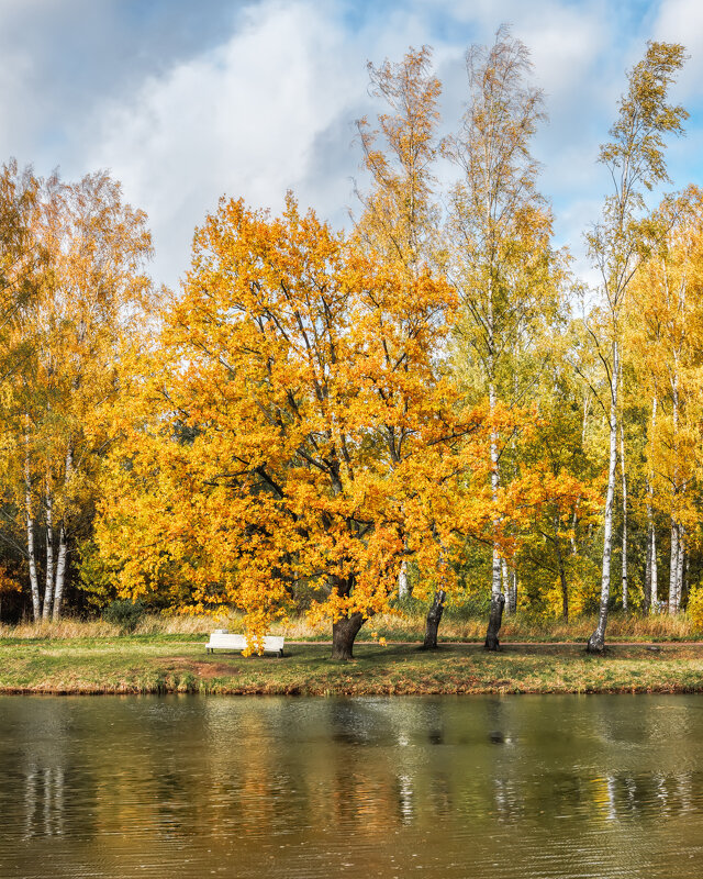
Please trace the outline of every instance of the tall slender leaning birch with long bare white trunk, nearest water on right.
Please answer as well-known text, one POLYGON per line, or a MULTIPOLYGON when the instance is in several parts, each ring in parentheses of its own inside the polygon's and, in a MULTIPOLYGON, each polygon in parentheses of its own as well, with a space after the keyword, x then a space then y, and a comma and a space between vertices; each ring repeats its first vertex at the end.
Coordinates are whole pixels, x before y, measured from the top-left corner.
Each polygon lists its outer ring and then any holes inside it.
POLYGON ((613 504, 617 468, 620 382, 623 345, 623 309, 632 279, 643 255, 646 204, 643 190, 668 180, 663 136, 680 134, 687 112, 667 103, 667 92, 684 60, 683 46, 647 44, 647 52, 629 73, 627 93, 620 102, 611 141, 601 147, 599 162, 609 169, 614 193, 605 199, 603 219, 587 235, 589 251, 600 274, 603 304, 594 315, 591 338, 606 378, 601 400, 609 419, 610 456, 603 513, 603 563, 599 622, 588 642, 590 653, 605 645, 611 593, 613 504))

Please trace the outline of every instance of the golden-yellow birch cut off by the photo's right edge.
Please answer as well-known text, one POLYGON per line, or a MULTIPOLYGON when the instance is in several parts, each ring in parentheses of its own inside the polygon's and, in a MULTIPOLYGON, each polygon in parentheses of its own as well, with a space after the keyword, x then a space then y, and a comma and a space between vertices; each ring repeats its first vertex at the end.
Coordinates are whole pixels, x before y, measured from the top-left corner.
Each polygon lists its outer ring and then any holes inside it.
MULTIPOLYGON (((660 231, 657 246, 633 281, 626 332, 638 386, 646 389, 651 412, 647 442, 649 566, 651 570, 656 558, 654 508, 669 520, 668 607, 670 613, 677 613, 687 541, 699 518, 694 491, 698 432, 703 419, 703 312, 698 296, 703 280, 703 192, 691 186, 678 197, 665 199, 654 224, 660 231)), ((651 590, 651 574, 649 583, 651 590)))

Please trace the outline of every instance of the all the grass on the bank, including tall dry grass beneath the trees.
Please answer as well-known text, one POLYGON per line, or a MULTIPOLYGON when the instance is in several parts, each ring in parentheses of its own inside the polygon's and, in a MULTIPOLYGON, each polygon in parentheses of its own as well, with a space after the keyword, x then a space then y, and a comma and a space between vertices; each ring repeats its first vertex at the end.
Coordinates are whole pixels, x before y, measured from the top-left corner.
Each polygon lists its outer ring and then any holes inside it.
POLYGON ((594 624, 589 617, 568 625, 507 617, 502 652, 487 654, 484 620, 449 613, 440 628, 444 643, 436 653, 423 653, 422 614, 386 614, 361 630, 352 663, 333 663, 330 646, 321 643, 330 639, 330 628, 304 620, 272 628, 287 636, 282 659, 207 655, 213 627, 241 631, 234 617, 153 615, 129 635, 99 620, 0 626, 0 692, 703 692, 703 645, 685 643, 700 637, 685 617, 614 614, 603 656, 583 649, 594 624), (369 643, 372 633, 388 646, 369 643), (652 650, 643 642, 660 646, 652 650))

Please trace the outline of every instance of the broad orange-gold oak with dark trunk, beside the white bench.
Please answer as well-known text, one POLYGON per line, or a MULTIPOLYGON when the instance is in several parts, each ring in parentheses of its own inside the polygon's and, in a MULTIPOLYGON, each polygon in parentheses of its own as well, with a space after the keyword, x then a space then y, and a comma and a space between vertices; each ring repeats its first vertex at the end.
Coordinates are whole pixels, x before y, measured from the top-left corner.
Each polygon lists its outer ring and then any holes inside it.
MULTIPOLYGON (((112 456, 99 541, 123 591, 188 580, 177 603, 238 607, 256 649, 304 585, 333 658, 352 658, 404 536, 436 570, 433 535, 456 526, 481 420, 457 414, 433 360, 451 308, 442 280, 375 265, 292 197, 275 220, 222 200, 166 315, 147 414, 112 456)), ((460 516, 475 527, 479 498, 460 516)))

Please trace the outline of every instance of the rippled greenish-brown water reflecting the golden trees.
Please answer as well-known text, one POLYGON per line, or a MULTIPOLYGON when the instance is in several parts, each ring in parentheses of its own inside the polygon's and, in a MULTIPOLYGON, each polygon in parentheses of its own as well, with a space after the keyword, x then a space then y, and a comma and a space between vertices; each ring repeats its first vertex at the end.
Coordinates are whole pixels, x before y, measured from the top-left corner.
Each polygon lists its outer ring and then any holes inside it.
POLYGON ((703 697, 0 698, 2 879, 703 875, 703 697))

